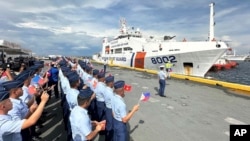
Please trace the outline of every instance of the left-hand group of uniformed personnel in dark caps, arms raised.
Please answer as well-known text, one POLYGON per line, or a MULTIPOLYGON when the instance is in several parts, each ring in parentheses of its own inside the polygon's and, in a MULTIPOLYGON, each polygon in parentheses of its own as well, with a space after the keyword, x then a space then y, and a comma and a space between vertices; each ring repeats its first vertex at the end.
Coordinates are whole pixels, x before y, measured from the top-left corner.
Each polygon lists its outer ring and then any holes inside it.
POLYGON ((41 77, 39 85, 34 79, 40 78, 43 61, 34 61, 28 68, 11 73, 9 67, 0 66, 0 141, 40 140, 36 133, 39 118, 49 99, 42 90, 48 76, 41 77), (36 93, 29 94, 28 87, 37 86, 36 93))

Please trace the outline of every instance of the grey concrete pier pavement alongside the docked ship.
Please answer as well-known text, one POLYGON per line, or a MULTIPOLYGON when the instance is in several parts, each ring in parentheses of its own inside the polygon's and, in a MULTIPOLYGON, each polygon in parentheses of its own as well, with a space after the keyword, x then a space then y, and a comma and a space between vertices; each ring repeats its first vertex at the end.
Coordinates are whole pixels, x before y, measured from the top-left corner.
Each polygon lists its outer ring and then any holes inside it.
MULTIPOLYGON (((230 124, 250 124, 249 92, 172 78, 167 80, 167 97, 163 98, 156 95, 155 74, 120 67, 107 67, 107 74, 132 86, 125 94, 127 110, 138 103, 142 92, 151 93, 128 123, 131 141, 228 140, 230 124)), ((66 141, 60 100, 52 97, 45 111, 47 119, 40 130, 43 140, 66 141)), ((102 140, 98 136, 94 141, 102 140)))

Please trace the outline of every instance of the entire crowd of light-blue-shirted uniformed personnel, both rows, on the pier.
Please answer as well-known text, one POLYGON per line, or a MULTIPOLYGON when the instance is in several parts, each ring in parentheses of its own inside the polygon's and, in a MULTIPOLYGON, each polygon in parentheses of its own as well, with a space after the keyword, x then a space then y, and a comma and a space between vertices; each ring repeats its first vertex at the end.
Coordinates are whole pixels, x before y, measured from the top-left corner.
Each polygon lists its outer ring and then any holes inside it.
MULTIPOLYGON (((41 75, 44 62, 20 72, 12 80, 0 84, 0 141, 36 140, 34 126, 54 88, 59 98, 67 140, 92 140, 97 134, 106 141, 128 141, 126 123, 139 109, 136 104, 127 113, 123 100, 125 81, 93 69, 87 60, 57 58, 48 73, 41 75), (35 81, 42 76, 42 83, 35 81), (36 86, 31 94, 29 87, 36 86)), ((47 72, 46 71, 46 72, 47 72)))

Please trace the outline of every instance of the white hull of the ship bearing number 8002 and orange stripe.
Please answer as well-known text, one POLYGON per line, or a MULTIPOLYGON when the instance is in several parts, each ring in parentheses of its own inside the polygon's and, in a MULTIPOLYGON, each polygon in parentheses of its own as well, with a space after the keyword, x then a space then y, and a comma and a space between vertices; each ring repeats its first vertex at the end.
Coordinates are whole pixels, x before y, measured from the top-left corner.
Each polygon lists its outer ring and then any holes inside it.
MULTIPOLYGON (((172 43, 173 44, 173 43, 172 43)), ((183 44, 183 43, 182 43, 183 44)), ((191 45, 192 43, 190 43, 191 45)), ((200 43, 200 45, 214 44, 210 42, 200 43)), ((164 45, 164 44, 163 44, 164 45)), ((151 47, 153 45, 150 45, 151 47)), ((166 45, 165 45, 166 46, 166 45)), ((215 45, 214 45, 215 46, 215 45)), ((146 48, 147 46, 145 46, 146 48)), ((124 67, 158 70, 160 65, 165 65, 168 61, 173 63, 173 73, 204 77, 212 65, 225 53, 227 47, 198 49, 197 44, 192 49, 179 47, 176 45, 176 53, 170 53, 167 48, 159 50, 148 49, 148 52, 126 52, 123 54, 99 54, 93 59, 108 64, 124 67), (196 49, 197 48, 197 49, 196 49), (183 50, 183 51, 181 51, 183 50), (189 50, 189 51, 188 51, 189 50)), ((146 48, 147 49, 147 48, 146 48)))

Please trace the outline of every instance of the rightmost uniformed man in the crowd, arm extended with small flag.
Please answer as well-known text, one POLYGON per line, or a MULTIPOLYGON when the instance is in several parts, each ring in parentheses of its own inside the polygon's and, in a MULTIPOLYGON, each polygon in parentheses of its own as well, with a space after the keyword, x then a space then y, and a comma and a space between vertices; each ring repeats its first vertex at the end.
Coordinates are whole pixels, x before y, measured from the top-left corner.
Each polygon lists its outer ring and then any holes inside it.
POLYGON ((131 112, 127 113, 126 104, 123 99, 125 82, 122 80, 114 83, 115 96, 112 99, 112 112, 113 112, 113 128, 114 128, 114 141, 128 141, 129 135, 126 123, 132 118, 134 113, 138 111, 139 104, 134 105, 131 112))

